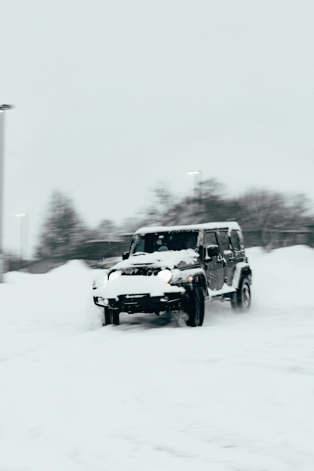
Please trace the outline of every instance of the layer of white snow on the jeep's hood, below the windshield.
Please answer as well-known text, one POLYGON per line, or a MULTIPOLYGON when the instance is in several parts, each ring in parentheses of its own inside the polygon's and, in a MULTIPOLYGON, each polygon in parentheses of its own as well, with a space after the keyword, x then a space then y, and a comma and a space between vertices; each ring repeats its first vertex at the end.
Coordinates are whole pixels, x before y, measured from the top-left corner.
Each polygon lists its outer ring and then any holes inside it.
POLYGON ((153 252, 153 253, 141 253, 140 255, 133 254, 129 256, 128 260, 123 260, 122 262, 114 265, 113 268, 117 270, 123 268, 131 268, 143 265, 149 265, 153 267, 165 267, 172 270, 178 266, 184 267, 188 265, 197 264, 197 259, 199 254, 196 253, 193 249, 186 250, 169 250, 167 252, 153 252))

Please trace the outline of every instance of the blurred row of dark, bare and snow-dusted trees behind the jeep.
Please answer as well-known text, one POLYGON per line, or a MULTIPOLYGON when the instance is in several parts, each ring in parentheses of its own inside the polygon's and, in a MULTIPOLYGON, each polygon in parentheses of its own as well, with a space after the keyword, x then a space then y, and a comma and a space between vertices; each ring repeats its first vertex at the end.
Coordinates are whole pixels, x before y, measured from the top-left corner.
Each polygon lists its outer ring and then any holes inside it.
MULTIPOLYGON (((134 218, 121 225, 103 219, 89 228, 67 195, 54 191, 43 221, 36 259, 84 258, 88 240, 119 240, 121 234, 133 233, 150 225, 188 225, 214 221, 239 222, 244 235, 272 249, 284 244, 278 234, 314 229, 314 217, 305 195, 286 195, 266 190, 250 190, 238 197, 226 196, 225 188, 214 179, 198 184, 193 195, 177 198, 161 184, 152 190, 152 202, 134 218)), ((286 239, 287 240, 287 239, 286 239)), ((250 245, 254 245, 250 243, 250 245)))

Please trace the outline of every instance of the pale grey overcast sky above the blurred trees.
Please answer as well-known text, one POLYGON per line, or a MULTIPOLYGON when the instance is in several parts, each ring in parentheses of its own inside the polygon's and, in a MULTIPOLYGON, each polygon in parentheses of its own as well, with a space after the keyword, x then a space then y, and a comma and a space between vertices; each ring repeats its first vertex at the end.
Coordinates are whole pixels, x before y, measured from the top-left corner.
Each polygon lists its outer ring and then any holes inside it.
POLYGON ((313 1, 1 0, 4 244, 49 197, 121 221, 202 170, 314 201, 313 1))

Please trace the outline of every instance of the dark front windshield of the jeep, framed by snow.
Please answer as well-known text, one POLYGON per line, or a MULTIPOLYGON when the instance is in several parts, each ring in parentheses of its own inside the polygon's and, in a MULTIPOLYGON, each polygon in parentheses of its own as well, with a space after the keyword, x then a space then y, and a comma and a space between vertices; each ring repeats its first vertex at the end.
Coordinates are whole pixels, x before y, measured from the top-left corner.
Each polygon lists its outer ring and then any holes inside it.
POLYGON ((136 234, 130 254, 167 252, 170 250, 196 250, 198 231, 173 231, 151 234, 136 234))

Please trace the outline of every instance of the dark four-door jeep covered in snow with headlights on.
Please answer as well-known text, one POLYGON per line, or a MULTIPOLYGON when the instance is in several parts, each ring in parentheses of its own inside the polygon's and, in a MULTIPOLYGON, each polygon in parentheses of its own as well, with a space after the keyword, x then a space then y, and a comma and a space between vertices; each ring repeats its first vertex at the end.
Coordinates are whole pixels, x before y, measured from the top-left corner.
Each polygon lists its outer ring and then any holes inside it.
POLYGON ((236 222, 193 226, 142 227, 130 251, 94 281, 94 302, 104 310, 103 324, 119 324, 120 312, 183 311, 187 325, 202 325, 205 302, 231 301, 250 308, 251 269, 236 222))

